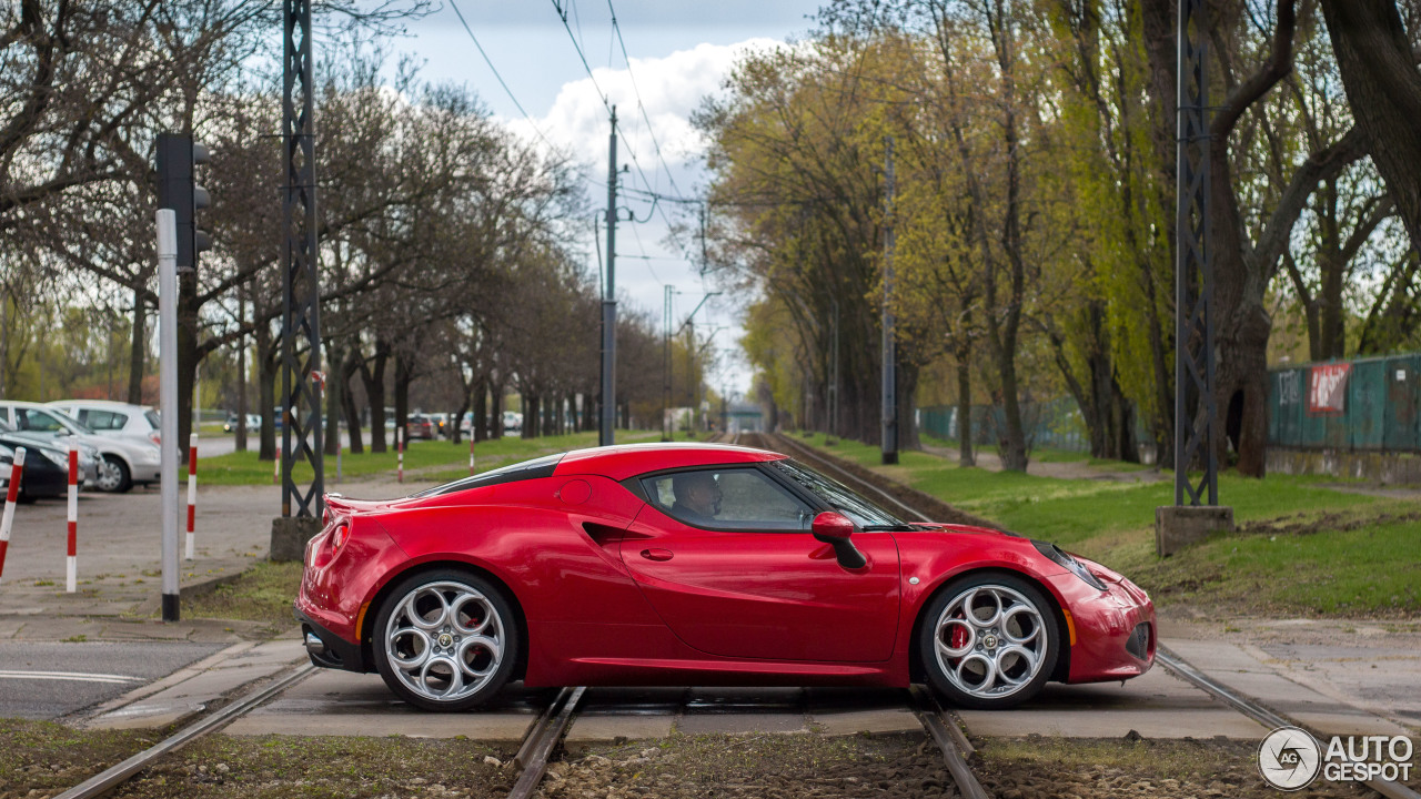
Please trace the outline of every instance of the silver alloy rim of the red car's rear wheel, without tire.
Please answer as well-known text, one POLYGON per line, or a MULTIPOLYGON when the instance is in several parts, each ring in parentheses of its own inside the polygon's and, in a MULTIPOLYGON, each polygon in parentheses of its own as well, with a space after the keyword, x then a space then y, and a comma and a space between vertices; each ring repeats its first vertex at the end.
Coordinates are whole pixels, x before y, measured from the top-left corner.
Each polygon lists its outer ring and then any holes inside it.
POLYGON ((385 626, 385 658, 406 688, 456 702, 483 688, 503 663, 504 628, 486 596, 441 580, 405 594, 385 626))

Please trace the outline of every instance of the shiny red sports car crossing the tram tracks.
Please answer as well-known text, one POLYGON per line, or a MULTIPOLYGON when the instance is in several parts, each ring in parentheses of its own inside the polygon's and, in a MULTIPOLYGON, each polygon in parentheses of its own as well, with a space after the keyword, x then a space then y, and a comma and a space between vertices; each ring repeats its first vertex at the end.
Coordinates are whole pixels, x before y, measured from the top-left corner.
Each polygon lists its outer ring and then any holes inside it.
POLYGON ((317 665, 428 709, 526 685, 888 685, 1005 708, 1144 674, 1154 606, 1054 545, 909 523, 784 455, 581 449, 391 502, 327 496, 317 665))

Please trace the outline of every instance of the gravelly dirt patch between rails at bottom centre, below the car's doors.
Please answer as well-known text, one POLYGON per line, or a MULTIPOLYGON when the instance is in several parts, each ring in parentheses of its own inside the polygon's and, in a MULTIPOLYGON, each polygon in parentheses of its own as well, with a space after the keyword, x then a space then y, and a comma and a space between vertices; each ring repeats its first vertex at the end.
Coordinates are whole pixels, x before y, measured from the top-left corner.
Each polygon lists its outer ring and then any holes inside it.
POLYGON ((594 749, 554 763, 547 799, 648 796, 837 799, 958 796, 936 746, 922 738, 674 735, 594 749))

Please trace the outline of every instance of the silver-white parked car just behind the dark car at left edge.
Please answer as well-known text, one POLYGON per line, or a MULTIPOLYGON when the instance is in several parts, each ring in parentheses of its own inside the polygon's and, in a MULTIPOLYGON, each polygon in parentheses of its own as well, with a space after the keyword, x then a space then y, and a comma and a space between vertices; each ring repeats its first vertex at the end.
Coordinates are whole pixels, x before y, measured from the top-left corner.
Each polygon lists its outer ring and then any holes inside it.
POLYGON ((0 419, 16 432, 48 441, 55 449, 77 442, 84 483, 99 490, 124 492, 135 482, 155 483, 161 479, 162 454, 156 444, 98 435, 64 411, 38 402, 3 400, 0 419))

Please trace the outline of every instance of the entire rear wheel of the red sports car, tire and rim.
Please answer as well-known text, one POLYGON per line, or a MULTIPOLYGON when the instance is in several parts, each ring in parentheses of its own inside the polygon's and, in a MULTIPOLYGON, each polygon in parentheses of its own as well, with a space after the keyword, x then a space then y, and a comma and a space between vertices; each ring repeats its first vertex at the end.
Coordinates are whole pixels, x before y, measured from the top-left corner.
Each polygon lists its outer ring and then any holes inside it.
POLYGON ((517 636, 512 607, 486 580, 455 570, 415 574, 375 617, 375 668, 415 707, 462 711, 507 682, 517 636))

